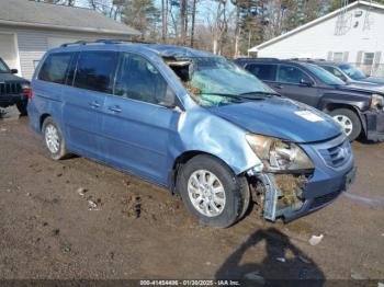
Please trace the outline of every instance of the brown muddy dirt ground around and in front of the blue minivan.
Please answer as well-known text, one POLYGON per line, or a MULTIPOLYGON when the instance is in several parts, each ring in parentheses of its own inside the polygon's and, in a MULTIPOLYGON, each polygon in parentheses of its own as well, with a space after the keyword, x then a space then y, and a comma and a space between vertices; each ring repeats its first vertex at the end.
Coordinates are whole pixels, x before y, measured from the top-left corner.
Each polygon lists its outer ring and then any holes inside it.
POLYGON ((49 160, 27 118, 8 112, 0 119, 0 279, 253 273, 384 283, 384 144, 353 144, 355 184, 315 214, 284 225, 253 211, 212 229, 167 190, 83 158, 49 160), (324 239, 312 246, 314 234, 324 239))

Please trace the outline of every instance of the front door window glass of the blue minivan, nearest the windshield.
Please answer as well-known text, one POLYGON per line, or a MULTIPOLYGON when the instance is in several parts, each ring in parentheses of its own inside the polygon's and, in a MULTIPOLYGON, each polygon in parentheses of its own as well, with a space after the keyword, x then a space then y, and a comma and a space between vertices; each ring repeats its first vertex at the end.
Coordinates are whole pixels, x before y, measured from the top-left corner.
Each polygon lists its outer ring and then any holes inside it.
POLYGON ((174 104, 174 93, 157 68, 140 56, 123 54, 114 94, 153 104, 174 104))

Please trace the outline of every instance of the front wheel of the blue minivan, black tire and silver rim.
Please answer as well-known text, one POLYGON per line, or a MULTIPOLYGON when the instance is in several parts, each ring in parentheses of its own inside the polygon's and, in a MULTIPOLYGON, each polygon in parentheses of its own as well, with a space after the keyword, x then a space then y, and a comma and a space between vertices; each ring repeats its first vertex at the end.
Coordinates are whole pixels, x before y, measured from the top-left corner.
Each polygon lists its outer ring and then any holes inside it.
POLYGON ((239 220, 250 199, 247 180, 236 176, 221 160, 207 154, 196 156, 182 167, 177 191, 200 223, 218 228, 239 220))

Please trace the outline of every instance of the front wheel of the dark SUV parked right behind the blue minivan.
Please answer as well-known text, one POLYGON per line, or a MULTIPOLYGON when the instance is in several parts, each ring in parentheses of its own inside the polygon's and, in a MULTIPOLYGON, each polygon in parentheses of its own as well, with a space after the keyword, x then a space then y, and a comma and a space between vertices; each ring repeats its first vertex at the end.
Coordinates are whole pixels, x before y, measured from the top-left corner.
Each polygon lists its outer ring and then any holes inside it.
POLYGON ((330 116, 339 123, 349 138, 349 141, 357 139, 362 130, 359 116, 349 108, 337 108, 330 112, 330 116))

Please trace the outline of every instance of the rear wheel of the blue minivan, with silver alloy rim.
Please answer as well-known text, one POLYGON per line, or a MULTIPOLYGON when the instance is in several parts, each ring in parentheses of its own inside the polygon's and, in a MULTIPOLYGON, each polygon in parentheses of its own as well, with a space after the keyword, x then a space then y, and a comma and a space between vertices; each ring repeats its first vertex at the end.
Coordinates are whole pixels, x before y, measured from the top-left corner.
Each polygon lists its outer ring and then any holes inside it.
POLYGON ((45 148, 53 160, 61 160, 69 156, 66 148, 66 140, 59 126, 52 117, 47 117, 43 123, 43 138, 45 148))

